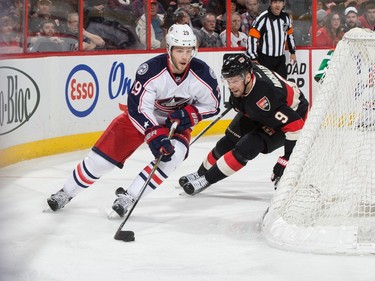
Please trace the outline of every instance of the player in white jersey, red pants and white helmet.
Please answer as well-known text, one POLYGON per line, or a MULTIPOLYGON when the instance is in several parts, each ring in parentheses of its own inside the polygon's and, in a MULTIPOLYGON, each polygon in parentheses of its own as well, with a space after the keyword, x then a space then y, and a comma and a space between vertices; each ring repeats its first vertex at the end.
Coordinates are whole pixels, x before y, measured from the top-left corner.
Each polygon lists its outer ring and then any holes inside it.
MULTIPOLYGON (((63 208, 80 191, 124 162, 147 142, 156 158, 163 155, 143 195, 156 189, 188 154, 190 134, 200 120, 219 113, 220 93, 212 69, 195 58, 196 37, 188 25, 173 25, 166 35, 167 52, 141 64, 128 94, 128 111, 116 117, 92 150, 78 163, 63 188, 47 203, 63 208), (168 139, 173 122, 179 124, 168 139)), ((124 216, 138 198, 155 160, 147 165, 113 203, 124 216)))

